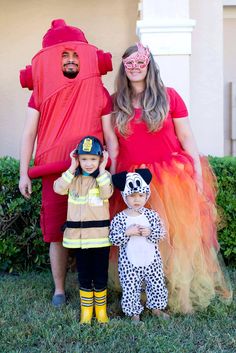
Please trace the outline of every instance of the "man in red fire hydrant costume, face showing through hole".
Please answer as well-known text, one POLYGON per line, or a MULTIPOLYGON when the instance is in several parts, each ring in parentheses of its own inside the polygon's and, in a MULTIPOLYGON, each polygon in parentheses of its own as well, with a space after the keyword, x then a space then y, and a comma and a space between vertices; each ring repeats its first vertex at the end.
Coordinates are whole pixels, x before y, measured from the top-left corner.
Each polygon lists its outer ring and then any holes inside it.
POLYGON ((83 32, 52 21, 43 37, 43 49, 32 65, 20 72, 22 87, 33 89, 28 103, 20 157, 19 188, 29 198, 31 179, 42 178, 40 225, 50 243, 50 262, 55 284, 52 304, 66 301, 67 249, 62 246, 61 225, 66 220, 67 196, 53 191, 53 182, 70 165, 70 152, 85 135, 103 141, 103 115, 111 102, 101 75, 112 71, 111 54, 88 44, 83 32), (29 169, 37 138, 34 167, 29 169))

